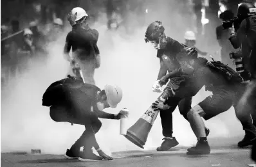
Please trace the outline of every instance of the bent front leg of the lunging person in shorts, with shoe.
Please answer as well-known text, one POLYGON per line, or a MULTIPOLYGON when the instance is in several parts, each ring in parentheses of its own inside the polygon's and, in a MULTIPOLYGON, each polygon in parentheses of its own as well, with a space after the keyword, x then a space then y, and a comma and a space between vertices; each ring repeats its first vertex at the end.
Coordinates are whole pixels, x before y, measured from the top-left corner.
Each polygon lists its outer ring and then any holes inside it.
MULTIPOLYGON (((232 93, 230 93, 232 95, 232 93)), ((232 106, 232 98, 228 94, 214 94, 206 97, 205 100, 197 104, 188 112, 188 121, 192 131, 197 137, 196 147, 188 148, 187 154, 210 154, 210 146, 206 138, 205 120, 208 120, 219 113, 227 111, 232 106)))

